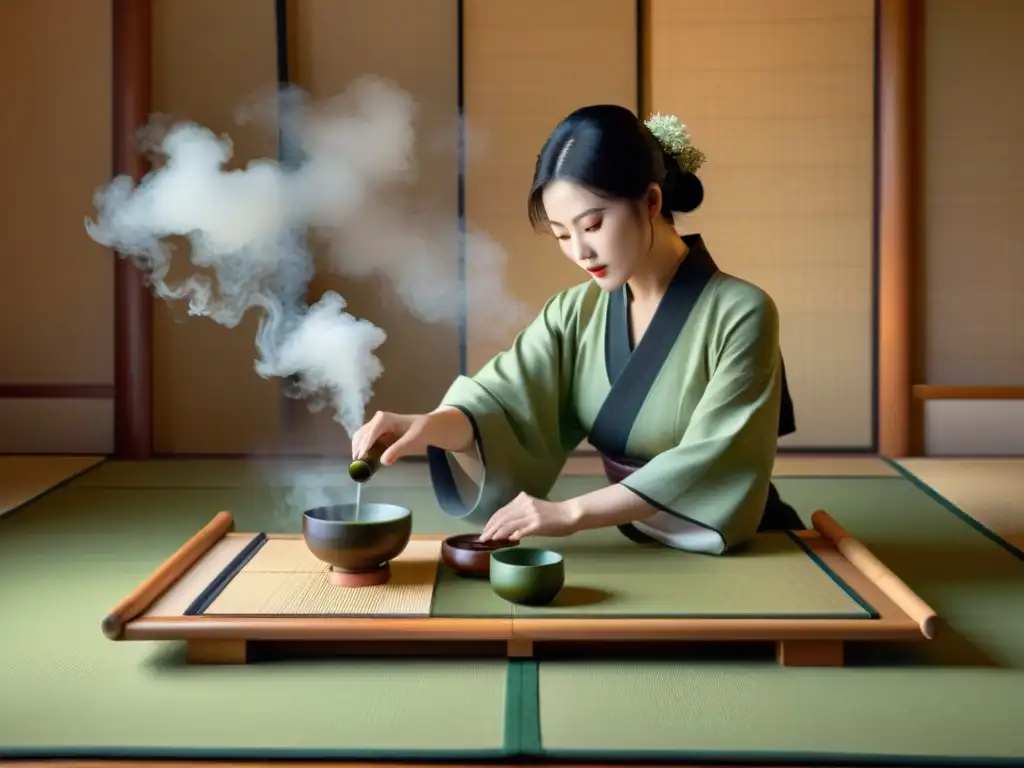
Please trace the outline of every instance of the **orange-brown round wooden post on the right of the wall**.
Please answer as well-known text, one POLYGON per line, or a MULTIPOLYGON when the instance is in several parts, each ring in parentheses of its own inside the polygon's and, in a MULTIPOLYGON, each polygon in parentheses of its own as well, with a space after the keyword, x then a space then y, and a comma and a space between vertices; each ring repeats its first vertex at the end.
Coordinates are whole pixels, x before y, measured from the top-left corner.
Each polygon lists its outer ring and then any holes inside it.
POLYGON ((910 454, 920 0, 878 0, 879 453, 910 454))

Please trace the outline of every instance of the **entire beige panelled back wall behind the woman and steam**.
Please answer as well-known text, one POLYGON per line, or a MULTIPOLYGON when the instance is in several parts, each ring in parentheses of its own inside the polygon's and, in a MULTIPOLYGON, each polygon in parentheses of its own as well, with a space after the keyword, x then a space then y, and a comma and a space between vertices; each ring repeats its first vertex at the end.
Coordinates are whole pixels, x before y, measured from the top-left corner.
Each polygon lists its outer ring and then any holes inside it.
MULTIPOLYGON (((702 231, 726 269, 778 301, 801 427, 791 444, 868 437, 871 5, 649 7, 648 108, 679 114, 709 155, 707 201, 680 228, 702 231)), ((1024 3, 925 6, 924 383, 1020 385, 1024 260, 1014 238, 1024 110, 1012 96, 1024 72, 1024 3)), ((233 120, 239 103, 275 81, 272 8, 154 0, 155 109, 229 131, 236 165, 276 154, 273 137, 233 120)), ((456 0, 415 8, 299 0, 297 80, 328 96, 364 72, 383 74, 412 90, 434 125, 454 118, 456 0), (390 10, 400 10, 402 24, 390 10)), ((531 311, 578 280, 526 222, 534 159, 574 106, 636 105, 634 14, 632 0, 465 2, 466 114, 480 151, 469 162, 467 214, 508 252, 506 286, 531 311)), ((8 0, 0 3, 0 42, 5 117, 13 116, 0 121, 0 203, 9 214, 0 227, 0 385, 110 385, 113 257, 83 227, 111 168, 109 5, 8 0)), ((437 153, 427 168, 417 194, 454 216, 454 158, 437 153)), ((454 253, 438 266, 445 280, 455 269, 454 253)), ((387 372, 371 408, 429 408, 457 373, 455 329, 416 321, 375 282, 321 274, 311 298, 329 287, 388 331, 387 372)), ((254 321, 228 330, 158 302, 158 450, 344 449, 328 415, 286 409, 279 384, 256 376, 254 321)), ((473 371, 509 339, 488 339, 472 313, 469 324, 473 371)), ((102 453, 113 447, 112 431, 109 399, 0 398, 0 452, 102 453)))

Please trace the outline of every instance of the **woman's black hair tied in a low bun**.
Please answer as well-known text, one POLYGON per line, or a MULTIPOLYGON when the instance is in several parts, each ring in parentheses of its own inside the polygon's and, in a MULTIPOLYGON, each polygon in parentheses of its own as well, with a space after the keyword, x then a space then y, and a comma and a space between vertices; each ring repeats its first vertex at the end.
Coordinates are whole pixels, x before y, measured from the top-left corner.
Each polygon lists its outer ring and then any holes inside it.
POLYGON ((662 187, 662 216, 689 213, 703 202, 703 185, 684 172, 657 139, 625 106, 594 104, 577 110, 552 131, 537 158, 529 190, 530 223, 546 221, 544 188, 557 179, 596 195, 640 201, 651 183, 662 187))

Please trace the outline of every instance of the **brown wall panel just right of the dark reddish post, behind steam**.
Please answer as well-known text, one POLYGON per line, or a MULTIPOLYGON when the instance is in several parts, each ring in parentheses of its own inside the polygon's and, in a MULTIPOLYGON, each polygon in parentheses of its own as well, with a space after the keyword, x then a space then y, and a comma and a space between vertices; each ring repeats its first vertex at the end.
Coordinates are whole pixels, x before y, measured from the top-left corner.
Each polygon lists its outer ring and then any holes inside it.
MULTIPOLYGON (((278 82, 273 3, 153 0, 153 110, 230 135, 228 167, 275 157, 276 139, 236 111, 278 82)), ((175 259, 180 269, 187 247, 175 259)), ((155 300, 154 443, 161 453, 263 453, 280 445, 281 385, 253 370, 255 312, 236 328, 155 300)))

